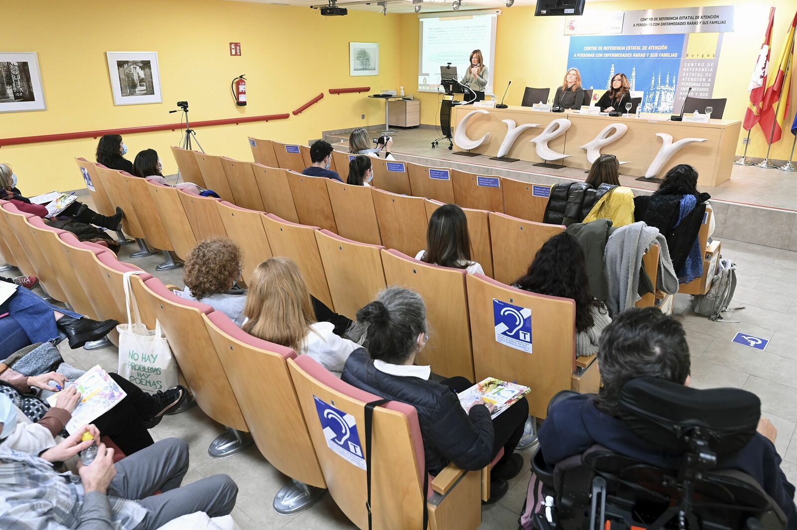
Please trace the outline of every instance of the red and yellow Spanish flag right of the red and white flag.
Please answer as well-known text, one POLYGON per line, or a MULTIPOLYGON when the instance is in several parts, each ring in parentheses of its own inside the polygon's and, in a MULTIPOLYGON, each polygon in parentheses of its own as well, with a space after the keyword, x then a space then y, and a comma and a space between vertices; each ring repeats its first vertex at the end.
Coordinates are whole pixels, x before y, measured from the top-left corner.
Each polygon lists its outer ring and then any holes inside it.
POLYGON ((797 25, 797 13, 791 21, 786 38, 783 40, 783 49, 775 66, 777 70, 774 75, 769 76, 767 92, 764 93, 764 104, 761 106, 761 117, 759 125, 764 131, 764 138, 768 144, 773 144, 780 139, 783 132, 780 124, 789 111, 789 88, 791 85, 791 68, 794 67, 794 47, 795 47, 795 25, 797 25), (786 101, 778 103, 780 96, 786 94, 786 101), (777 114, 775 114, 777 107, 777 114), (773 131, 772 124, 775 124, 773 131), (771 134, 771 135, 770 135, 771 134))

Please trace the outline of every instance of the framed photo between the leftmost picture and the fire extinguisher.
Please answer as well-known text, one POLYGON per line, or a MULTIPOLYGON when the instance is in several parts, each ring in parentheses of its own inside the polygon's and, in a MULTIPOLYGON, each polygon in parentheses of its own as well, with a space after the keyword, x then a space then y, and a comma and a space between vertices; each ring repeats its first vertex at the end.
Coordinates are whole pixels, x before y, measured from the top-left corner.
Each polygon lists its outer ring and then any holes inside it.
POLYGON ((108 52, 114 105, 161 103, 157 52, 108 52))

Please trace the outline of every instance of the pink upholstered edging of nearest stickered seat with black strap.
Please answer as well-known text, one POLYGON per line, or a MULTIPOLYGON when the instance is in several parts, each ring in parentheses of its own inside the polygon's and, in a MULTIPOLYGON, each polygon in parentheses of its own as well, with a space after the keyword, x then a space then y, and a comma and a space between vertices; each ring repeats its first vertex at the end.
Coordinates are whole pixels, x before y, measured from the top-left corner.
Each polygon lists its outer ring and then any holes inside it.
MULTIPOLYGON (((341 394, 345 394, 353 399, 358 399, 359 401, 363 402, 363 405, 371 401, 376 401, 377 399, 382 399, 380 396, 371 394, 371 392, 360 390, 359 388, 344 382, 344 380, 338 379, 332 372, 329 372, 327 368, 324 368, 318 364, 316 360, 308 355, 300 355, 299 357, 296 357, 296 364, 298 364, 299 367, 308 374, 308 376, 311 376, 320 384, 323 384, 325 387, 332 388, 332 390, 340 392, 341 394)), ((418 477, 422 477, 423 473, 426 473, 426 454, 423 452, 423 438, 421 436, 421 426, 418 423, 418 411, 416 411, 415 407, 412 405, 402 403, 400 401, 388 401, 380 406, 389 408, 391 411, 401 412, 406 416, 407 423, 410 427, 412 446, 415 450, 415 462, 418 462, 418 477)), ((360 435, 361 441, 365 443, 365 433, 362 432, 360 435)), ((427 497, 430 490, 431 488, 427 491, 427 497)))

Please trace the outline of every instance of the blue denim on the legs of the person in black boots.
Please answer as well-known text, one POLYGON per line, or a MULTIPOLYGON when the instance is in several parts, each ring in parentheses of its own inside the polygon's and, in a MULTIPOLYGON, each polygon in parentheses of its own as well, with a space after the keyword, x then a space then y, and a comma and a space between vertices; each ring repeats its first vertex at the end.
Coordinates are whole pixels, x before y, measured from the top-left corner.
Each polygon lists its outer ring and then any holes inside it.
POLYGON ((38 294, 18 286, 17 292, 0 305, 0 360, 18 349, 37 342, 58 341, 62 338, 53 310, 73 318, 83 318, 74 311, 45 302, 38 294))

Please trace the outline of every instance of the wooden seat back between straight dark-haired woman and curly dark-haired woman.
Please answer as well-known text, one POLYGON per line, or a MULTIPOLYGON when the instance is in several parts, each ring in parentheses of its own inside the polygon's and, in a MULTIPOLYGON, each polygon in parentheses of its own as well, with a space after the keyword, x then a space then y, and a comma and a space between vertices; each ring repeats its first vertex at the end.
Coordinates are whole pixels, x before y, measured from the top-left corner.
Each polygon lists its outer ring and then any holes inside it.
POLYGON ((528 271, 543 244, 563 232, 560 224, 543 224, 490 212, 490 240, 495 279, 511 285, 528 271))

